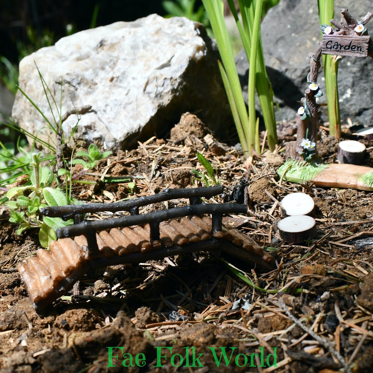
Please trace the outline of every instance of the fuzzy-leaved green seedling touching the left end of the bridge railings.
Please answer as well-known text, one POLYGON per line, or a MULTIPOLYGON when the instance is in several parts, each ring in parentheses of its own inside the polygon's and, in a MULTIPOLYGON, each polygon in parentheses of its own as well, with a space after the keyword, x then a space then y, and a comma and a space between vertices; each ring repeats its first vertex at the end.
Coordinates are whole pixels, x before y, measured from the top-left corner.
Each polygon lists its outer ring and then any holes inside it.
MULTIPOLYGON (((53 173, 47 167, 40 167, 41 153, 32 153, 31 157, 31 182, 23 186, 14 186, 6 193, 9 199, 7 203, 10 209, 9 221, 19 224, 18 234, 28 228, 40 228, 40 244, 43 247, 49 247, 50 242, 57 239, 56 229, 72 224, 73 220, 69 219, 64 222, 60 217, 47 216, 41 219, 41 207, 64 206, 68 204, 68 199, 62 190, 51 188, 53 173), (25 192, 28 194, 24 195, 25 192)), ((74 198, 70 202, 78 203, 74 198)))

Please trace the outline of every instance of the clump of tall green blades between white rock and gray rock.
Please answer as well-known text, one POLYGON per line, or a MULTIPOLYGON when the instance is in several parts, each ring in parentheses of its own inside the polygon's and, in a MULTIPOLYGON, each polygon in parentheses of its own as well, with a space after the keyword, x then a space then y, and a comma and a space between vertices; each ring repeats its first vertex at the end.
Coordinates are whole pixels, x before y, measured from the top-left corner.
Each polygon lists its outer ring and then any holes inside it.
MULTIPOLYGON (((228 0, 250 63, 248 112, 242 97, 242 89, 235 65, 233 49, 224 20, 223 1, 202 0, 202 2, 209 16, 211 28, 216 39, 217 47, 219 48, 221 57, 219 69, 244 154, 245 156, 251 156, 253 149, 257 153, 260 153, 258 121, 255 113, 255 91, 259 97, 264 124, 267 129, 269 148, 273 151, 277 144, 273 90, 264 64, 264 54, 260 35, 260 19, 263 0, 238 0, 242 15, 242 23, 238 18, 233 0, 228 0)), ((276 1, 273 3, 276 3, 276 1)))

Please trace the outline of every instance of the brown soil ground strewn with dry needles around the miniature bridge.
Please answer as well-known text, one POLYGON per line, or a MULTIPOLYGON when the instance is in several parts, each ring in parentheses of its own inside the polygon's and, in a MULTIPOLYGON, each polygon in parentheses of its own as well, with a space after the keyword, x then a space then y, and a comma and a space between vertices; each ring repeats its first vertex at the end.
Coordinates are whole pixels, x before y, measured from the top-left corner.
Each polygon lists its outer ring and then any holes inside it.
MULTIPOLYGON (((77 184, 75 197, 107 203, 130 197, 128 182, 115 180, 126 175, 136 183, 138 197, 166 187, 202 186, 191 173, 204 172, 199 151, 226 187, 210 201, 248 200, 247 217, 231 220, 267 248, 276 268, 260 273, 234 258, 204 252, 107 267, 87 273, 74 297, 66 294, 38 315, 15 270, 40 247, 37 232, 17 235, 3 208, 1 372, 373 372, 371 192, 281 181, 276 171, 285 161, 284 143, 250 163, 233 147, 209 147, 206 134, 195 116, 183 116, 169 140, 153 137, 101 161, 80 178, 97 183, 77 184), (315 201, 318 235, 289 245, 276 228, 279 202, 299 191, 315 201), (277 367, 269 367, 273 354, 277 367)), ((373 142, 365 143, 364 164, 372 166, 373 142)), ((335 162, 337 146, 320 132, 320 155, 327 162, 335 162)), ((140 212, 187 203, 169 201, 140 212)))

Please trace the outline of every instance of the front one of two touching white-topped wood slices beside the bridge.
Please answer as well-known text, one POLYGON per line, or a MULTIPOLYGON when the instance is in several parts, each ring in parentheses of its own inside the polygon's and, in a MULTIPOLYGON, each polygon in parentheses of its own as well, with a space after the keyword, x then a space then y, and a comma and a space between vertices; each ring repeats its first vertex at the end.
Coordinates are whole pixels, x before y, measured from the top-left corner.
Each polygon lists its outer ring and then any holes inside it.
POLYGON ((315 219, 308 215, 292 215, 277 223, 280 237, 285 242, 303 243, 316 235, 315 219))

